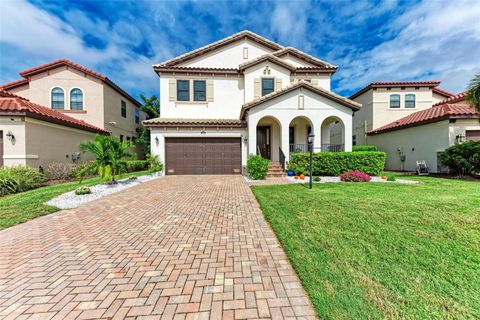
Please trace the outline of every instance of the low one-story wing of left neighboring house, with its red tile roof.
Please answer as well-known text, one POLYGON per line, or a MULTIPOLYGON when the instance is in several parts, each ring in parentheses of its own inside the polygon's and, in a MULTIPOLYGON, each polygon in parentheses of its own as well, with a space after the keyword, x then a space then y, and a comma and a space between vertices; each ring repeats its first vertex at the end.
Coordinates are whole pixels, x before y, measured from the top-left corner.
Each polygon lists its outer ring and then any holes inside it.
POLYGON ((78 145, 108 131, 0 89, 0 167, 88 160, 78 145))

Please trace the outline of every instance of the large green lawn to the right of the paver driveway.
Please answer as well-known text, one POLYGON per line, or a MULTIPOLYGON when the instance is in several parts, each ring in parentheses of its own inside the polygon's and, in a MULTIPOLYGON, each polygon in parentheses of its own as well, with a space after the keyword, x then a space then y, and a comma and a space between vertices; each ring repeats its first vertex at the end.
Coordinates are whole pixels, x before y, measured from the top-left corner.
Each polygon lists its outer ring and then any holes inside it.
POLYGON ((408 178, 252 187, 322 319, 480 318, 480 183, 408 178))

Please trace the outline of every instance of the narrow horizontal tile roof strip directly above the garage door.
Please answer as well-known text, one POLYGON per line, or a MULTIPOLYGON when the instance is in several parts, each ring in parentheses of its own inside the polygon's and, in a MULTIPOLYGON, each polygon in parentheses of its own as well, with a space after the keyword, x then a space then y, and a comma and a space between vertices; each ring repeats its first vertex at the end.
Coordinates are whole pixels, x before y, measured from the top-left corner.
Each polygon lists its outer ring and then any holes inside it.
POLYGON ((184 119, 184 118, 155 118, 143 121, 147 127, 238 127, 245 128, 247 123, 240 119, 184 119))

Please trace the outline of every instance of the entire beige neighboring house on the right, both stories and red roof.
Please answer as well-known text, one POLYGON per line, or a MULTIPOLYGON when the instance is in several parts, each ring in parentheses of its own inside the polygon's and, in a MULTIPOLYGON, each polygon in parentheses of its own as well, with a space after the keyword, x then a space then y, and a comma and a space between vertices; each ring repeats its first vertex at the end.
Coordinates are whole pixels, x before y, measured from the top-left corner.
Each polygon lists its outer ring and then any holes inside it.
POLYGON ((432 172, 446 168, 440 154, 465 140, 480 140, 478 114, 438 88, 440 81, 372 82, 350 99, 363 106, 353 117, 353 143, 387 153, 387 170, 414 171, 426 161, 432 172))

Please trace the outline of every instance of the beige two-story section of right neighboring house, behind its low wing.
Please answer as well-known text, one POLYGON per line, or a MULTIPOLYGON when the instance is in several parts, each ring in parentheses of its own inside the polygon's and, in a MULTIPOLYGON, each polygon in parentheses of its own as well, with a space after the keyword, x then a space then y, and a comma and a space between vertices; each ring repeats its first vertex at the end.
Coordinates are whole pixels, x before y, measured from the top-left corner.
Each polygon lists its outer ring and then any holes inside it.
POLYGON ((353 144, 371 144, 367 132, 453 96, 440 81, 372 82, 350 96, 362 104, 353 117, 353 144))

